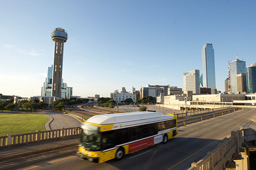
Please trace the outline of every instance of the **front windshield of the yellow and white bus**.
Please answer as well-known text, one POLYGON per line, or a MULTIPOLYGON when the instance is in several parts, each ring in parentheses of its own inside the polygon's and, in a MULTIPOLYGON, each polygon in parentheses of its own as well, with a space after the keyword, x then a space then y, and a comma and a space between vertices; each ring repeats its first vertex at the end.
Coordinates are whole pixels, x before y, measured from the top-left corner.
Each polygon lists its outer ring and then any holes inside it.
POLYGON ((100 149, 101 136, 98 130, 82 129, 81 145, 86 150, 96 151, 100 149))

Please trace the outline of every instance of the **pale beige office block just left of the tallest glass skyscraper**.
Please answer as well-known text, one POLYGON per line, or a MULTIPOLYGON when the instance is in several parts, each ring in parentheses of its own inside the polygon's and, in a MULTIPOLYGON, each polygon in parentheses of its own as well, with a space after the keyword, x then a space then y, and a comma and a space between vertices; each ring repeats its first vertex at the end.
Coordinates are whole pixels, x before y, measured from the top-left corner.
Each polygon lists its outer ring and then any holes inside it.
POLYGON ((183 90, 200 94, 200 71, 192 70, 183 74, 183 90))

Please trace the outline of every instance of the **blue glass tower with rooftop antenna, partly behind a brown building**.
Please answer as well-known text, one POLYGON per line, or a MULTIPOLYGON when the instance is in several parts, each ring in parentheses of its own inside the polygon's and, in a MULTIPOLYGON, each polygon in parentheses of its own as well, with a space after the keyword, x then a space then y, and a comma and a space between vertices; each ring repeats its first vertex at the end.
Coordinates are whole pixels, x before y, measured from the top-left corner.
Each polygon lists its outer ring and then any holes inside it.
POLYGON ((230 87, 231 94, 238 94, 237 91, 237 74, 245 73, 246 74, 246 66, 245 61, 242 59, 238 59, 236 55, 236 60, 230 62, 230 87))

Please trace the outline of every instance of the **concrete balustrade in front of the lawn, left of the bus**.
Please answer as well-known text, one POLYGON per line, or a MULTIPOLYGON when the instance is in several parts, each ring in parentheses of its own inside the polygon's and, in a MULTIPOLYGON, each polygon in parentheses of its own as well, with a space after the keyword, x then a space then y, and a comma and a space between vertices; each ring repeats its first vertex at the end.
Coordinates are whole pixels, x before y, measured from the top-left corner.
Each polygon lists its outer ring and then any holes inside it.
POLYGON ((69 127, 55 130, 37 130, 31 133, 7 134, 0 136, 0 148, 28 144, 49 139, 62 139, 67 137, 78 136, 81 133, 80 127, 69 127))

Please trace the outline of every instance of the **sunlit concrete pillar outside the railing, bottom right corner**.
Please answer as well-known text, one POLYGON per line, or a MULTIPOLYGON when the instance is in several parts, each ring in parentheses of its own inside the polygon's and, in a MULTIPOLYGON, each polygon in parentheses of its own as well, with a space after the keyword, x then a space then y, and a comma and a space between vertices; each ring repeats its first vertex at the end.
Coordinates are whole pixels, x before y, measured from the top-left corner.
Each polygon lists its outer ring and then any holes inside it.
POLYGON ((234 160, 236 162, 236 170, 249 170, 250 169, 250 162, 249 162, 249 149, 243 147, 240 150, 241 159, 234 160))

